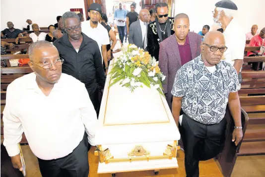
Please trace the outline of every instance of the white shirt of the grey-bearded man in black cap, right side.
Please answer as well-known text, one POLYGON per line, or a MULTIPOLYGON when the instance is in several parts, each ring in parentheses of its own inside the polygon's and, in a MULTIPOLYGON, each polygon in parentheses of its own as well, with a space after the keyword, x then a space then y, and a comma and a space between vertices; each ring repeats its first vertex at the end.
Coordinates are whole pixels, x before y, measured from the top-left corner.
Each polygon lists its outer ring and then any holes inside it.
POLYGON ((242 31, 240 25, 238 25, 233 19, 224 31, 225 45, 228 47, 224 52, 223 58, 234 66, 235 60, 244 59, 244 50, 246 44, 246 35, 242 31))

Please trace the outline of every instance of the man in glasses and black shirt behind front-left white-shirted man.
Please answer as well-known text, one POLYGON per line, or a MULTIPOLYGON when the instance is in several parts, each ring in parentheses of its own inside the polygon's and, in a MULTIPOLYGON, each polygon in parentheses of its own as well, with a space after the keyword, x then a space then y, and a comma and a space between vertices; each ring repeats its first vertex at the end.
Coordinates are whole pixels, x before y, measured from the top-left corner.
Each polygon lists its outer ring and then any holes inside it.
POLYGON ((85 84, 98 115, 98 85, 103 89, 106 80, 98 44, 81 32, 80 19, 76 13, 66 12, 62 18, 66 34, 54 42, 60 57, 65 60, 62 71, 85 84))

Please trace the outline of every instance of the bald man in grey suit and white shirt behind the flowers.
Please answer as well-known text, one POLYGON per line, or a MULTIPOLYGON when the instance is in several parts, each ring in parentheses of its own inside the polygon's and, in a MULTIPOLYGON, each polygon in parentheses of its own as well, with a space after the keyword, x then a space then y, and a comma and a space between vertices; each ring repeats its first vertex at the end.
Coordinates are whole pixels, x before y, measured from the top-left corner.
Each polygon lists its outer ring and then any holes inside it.
POLYGON ((150 20, 150 12, 147 9, 141 9, 139 17, 140 19, 133 22, 129 28, 129 44, 135 44, 147 51, 147 24, 150 20))

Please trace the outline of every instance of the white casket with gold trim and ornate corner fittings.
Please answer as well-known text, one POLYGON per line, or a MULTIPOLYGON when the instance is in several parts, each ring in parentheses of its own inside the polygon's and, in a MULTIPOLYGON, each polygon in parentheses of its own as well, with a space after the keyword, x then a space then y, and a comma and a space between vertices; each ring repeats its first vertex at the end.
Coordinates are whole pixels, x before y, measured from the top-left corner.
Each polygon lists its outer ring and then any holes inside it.
POLYGON ((145 86, 131 92, 109 84, 108 75, 95 136, 98 174, 178 168, 180 133, 166 99, 145 86))

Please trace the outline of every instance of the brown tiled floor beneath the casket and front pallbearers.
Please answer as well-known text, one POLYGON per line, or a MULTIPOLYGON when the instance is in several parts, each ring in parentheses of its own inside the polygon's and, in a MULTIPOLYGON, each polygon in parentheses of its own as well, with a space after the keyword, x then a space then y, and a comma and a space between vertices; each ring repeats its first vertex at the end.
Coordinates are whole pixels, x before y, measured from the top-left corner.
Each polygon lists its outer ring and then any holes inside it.
MULTIPOLYGON (((90 172, 89 177, 111 177, 111 174, 97 174, 98 157, 94 156, 95 148, 88 154, 90 172)), ((22 146, 26 163, 27 177, 41 177, 37 158, 32 154, 29 146, 22 146)), ((177 154, 178 169, 160 170, 157 176, 153 171, 117 173, 116 177, 186 177, 184 167, 184 152, 177 154)), ((265 156, 238 157, 232 177, 265 177, 265 156)), ((213 159, 200 162, 200 177, 223 177, 213 159)))

